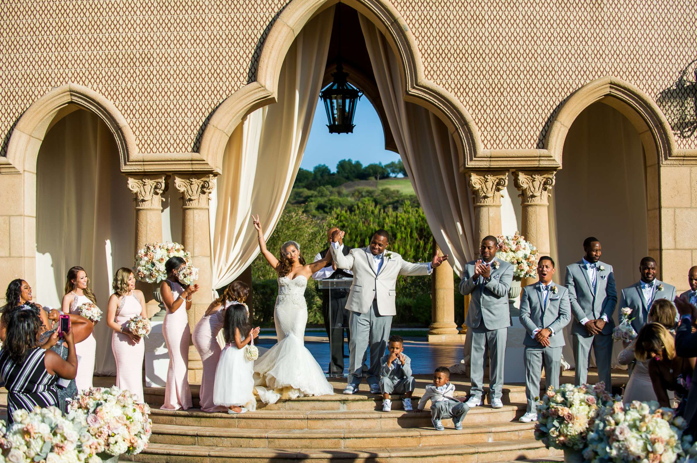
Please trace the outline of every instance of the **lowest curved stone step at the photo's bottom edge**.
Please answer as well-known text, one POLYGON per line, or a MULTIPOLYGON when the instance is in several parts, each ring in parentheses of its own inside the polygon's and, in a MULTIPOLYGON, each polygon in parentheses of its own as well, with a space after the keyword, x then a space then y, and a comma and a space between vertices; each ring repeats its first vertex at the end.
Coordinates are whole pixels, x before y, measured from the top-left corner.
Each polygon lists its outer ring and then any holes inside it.
MULTIPOLYGON (((446 430, 444 435, 451 434, 446 430)), ((560 455, 559 450, 546 449, 535 439, 510 439, 469 445, 404 446, 400 448, 225 448, 149 444, 143 453, 128 457, 144 463, 221 463, 221 462, 429 462, 480 463, 521 460, 560 455)))

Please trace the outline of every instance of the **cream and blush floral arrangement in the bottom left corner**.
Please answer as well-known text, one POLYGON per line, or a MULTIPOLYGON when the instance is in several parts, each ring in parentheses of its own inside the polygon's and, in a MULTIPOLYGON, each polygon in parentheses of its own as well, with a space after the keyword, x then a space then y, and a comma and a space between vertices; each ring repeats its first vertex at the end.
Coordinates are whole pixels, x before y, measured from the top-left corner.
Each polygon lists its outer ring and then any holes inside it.
MULTIPOLYGON (((82 441, 79 426, 63 417, 56 407, 33 411, 19 409, 15 422, 6 427, 0 421, 0 461, 12 463, 82 463, 82 441)), ((91 462, 90 462, 91 463, 91 462)))

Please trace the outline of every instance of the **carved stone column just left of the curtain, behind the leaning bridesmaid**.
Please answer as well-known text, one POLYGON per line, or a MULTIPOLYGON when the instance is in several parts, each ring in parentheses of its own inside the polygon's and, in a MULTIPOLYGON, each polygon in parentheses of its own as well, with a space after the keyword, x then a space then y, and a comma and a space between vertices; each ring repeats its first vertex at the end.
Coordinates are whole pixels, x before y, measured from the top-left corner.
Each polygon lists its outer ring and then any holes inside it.
MULTIPOLYGON (((187 315, 189 327, 194 332, 196 323, 201 320, 210 301, 213 300, 211 277, 213 265, 210 261, 210 224, 208 222, 208 201, 215 189, 211 174, 175 174, 174 186, 182 201, 182 243, 191 253, 192 264, 199 269, 199 290, 192 296, 192 305, 187 315)), ((200 383, 203 372, 201 357, 194 345, 189 344, 189 382, 200 383)))

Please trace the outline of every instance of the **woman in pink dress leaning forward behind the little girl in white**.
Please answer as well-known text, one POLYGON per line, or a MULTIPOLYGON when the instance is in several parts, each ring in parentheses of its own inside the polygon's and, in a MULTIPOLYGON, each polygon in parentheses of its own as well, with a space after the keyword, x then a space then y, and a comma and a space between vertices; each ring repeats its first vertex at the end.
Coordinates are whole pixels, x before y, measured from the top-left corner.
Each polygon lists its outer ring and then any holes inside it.
POLYGON ((227 411, 227 407, 213 403, 213 384, 215 384, 215 369, 220 359, 220 344, 217 333, 222 329, 225 311, 235 302, 244 302, 250 293, 249 286, 241 281, 230 283, 222 296, 210 303, 206 313, 194 328, 192 336, 194 346, 199 351, 204 363, 204 376, 201 379, 201 411, 227 411))

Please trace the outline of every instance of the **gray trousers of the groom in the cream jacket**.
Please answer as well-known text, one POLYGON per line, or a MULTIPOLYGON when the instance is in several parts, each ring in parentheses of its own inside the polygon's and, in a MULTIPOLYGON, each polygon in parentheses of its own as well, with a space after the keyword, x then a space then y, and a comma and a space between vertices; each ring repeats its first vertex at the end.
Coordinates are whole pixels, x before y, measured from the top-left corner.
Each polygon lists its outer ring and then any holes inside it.
POLYGON ((378 314, 378 301, 373 299, 371 310, 366 313, 351 312, 348 319, 351 342, 348 343, 348 384, 360 384, 365 351, 370 345, 368 384, 380 382, 380 359, 388 347, 392 315, 378 314))

